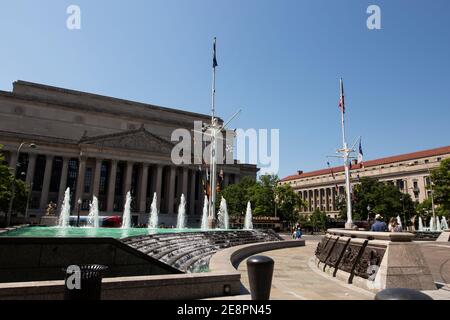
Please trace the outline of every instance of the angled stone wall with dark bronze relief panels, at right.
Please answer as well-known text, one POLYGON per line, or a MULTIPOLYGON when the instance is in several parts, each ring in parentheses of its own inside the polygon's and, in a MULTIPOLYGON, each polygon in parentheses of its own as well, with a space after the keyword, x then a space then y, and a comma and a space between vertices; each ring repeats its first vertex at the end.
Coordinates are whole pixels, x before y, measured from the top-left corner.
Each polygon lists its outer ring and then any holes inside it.
POLYGON ((316 249, 321 271, 377 292, 386 288, 435 290, 413 234, 330 229, 316 249))

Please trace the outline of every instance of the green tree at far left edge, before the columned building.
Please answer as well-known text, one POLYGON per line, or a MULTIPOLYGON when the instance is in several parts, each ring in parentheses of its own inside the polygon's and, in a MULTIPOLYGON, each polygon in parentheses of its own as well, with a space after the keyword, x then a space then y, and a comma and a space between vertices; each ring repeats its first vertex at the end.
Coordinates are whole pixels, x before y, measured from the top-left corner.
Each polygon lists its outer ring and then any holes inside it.
POLYGON ((15 183, 16 187, 12 211, 23 213, 26 208, 28 190, 22 180, 15 179, 10 169, 5 164, 3 154, 0 152, 0 211, 4 213, 7 213, 9 209, 9 202, 12 195, 12 183, 15 183))

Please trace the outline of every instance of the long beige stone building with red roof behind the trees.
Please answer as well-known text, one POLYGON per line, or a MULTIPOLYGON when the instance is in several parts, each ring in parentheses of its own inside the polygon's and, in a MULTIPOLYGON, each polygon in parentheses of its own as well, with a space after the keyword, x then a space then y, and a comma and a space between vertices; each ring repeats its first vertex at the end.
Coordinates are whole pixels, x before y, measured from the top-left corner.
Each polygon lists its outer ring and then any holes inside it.
MULTIPOLYGON (((401 192, 410 194, 413 201, 422 202, 431 196, 430 170, 449 157, 450 146, 447 146, 365 161, 362 165, 353 163, 350 171, 351 184, 357 184, 363 177, 376 178, 396 185, 401 192)), ((344 167, 299 171, 282 179, 280 184, 292 186, 308 203, 308 207, 302 209, 304 214, 320 209, 334 218, 339 214, 337 199, 345 196, 344 167)))

